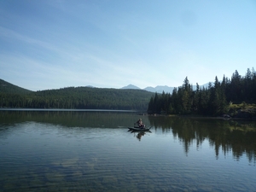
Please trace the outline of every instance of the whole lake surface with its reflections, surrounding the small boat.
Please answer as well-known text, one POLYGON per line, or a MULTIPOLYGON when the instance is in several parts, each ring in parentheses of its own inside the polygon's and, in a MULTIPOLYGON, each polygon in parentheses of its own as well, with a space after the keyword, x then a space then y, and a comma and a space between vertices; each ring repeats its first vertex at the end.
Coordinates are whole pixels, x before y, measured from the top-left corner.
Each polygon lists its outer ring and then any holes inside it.
POLYGON ((255 152, 253 121, 0 111, 0 191, 256 191, 255 152))

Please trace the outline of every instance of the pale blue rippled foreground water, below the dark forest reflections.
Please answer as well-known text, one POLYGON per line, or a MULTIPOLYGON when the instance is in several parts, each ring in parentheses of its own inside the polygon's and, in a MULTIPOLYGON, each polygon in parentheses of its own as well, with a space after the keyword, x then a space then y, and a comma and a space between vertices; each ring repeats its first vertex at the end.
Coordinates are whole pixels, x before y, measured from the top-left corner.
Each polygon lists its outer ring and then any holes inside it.
MULTIPOLYGON (((172 132, 15 125, 0 135, 0 191, 252 191, 255 166, 172 132), (14 130, 12 130, 14 129, 14 130), (13 131, 13 132, 12 132, 13 131), (2 148, 4 146, 4 148, 2 148), (253 171, 252 171, 253 170, 253 171)), ((204 140, 207 143, 207 140, 204 140)))

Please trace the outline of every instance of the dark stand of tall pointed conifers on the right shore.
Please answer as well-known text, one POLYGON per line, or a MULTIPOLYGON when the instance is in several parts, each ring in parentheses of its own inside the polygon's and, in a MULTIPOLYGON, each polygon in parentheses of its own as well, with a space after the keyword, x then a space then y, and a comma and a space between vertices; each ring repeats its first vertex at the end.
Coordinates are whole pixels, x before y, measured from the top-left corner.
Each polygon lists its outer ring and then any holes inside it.
POLYGON ((237 70, 231 79, 216 76, 207 87, 196 84, 196 90, 186 77, 183 85, 172 94, 155 93, 148 103, 148 113, 222 115, 228 113, 230 103, 256 102, 256 72, 247 69, 245 76, 237 70))

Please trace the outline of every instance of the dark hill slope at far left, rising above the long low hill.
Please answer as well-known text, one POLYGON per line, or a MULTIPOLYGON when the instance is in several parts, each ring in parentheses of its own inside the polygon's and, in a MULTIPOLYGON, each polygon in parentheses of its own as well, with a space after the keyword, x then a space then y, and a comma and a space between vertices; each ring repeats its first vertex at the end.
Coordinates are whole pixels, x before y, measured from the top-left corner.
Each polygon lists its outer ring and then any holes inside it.
POLYGON ((11 94, 27 94, 31 93, 32 90, 26 90, 15 84, 10 84, 9 82, 0 79, 0 93, 11 93, 11 94))

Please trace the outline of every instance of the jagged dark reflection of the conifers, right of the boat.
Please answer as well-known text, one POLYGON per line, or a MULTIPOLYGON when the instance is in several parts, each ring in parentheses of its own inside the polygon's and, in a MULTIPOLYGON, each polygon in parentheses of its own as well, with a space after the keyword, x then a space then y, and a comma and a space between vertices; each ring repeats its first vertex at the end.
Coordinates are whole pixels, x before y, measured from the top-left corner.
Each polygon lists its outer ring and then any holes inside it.
POLYGON ((232 151, 236 160, 246 154, 250 162, 256 161, 255 122, 163 116, 150 116, 148 119, 150 125, 161 128, 162 131, 172 131, 173 136, 183 143, 186 154, 193 143, 198 148, 207 138, 215 149, 217 159, 219 150, 222 149, 224 155, 232 151))

